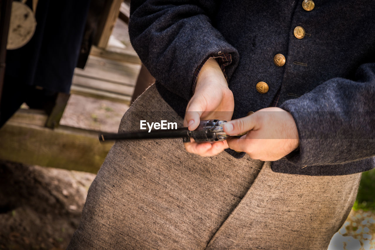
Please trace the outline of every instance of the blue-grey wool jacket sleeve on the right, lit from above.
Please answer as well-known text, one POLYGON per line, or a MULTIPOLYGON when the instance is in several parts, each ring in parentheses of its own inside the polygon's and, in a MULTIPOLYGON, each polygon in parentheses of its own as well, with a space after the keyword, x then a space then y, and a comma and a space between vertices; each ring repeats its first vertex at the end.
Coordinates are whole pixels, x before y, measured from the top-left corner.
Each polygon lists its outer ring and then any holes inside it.
POLYGON ((375 63, 356 79, 333 78, 284 102, 297 124, 300 150, 287 156, 298 166, 332 165, 375 156, 375 63))

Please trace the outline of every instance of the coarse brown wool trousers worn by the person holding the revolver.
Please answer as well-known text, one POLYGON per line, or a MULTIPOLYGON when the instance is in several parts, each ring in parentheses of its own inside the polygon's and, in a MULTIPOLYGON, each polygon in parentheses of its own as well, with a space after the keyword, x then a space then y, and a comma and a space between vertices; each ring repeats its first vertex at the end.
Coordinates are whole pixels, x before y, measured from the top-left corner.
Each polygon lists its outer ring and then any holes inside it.
MULTIPOLYGON (((119 132, 139 120, 182 124, 155 85, 119 132)), ((189 154, 181 139, 117 141, 68 249, 327 249, 360 176, 280 174, 248 155, 189 154)))

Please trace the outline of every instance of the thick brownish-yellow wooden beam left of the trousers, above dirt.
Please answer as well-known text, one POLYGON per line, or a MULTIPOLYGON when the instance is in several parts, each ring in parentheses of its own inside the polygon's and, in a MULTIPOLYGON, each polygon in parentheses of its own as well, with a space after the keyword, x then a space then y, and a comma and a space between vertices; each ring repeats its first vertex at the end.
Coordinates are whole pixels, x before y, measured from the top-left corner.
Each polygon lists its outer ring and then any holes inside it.
POLYGON ((31 165, 96 173, 112 143, 100 143, 97 135, 52 130, 8 121, 0 129, 0 159, 31 165))

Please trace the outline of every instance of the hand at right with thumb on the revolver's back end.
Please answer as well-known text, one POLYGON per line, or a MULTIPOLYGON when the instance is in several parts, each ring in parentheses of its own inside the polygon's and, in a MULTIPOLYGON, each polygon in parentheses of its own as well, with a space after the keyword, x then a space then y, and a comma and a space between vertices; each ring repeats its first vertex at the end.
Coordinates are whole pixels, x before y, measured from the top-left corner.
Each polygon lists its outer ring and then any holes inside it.
POLYGON ((227 141, 229 148, 246 152, 252 159, 279 160, 299 146, 296 122, 289 112, 281 108, 260 109, 247 117, 229 121, 223 129, 228 135, 248 131, 241 138, 227 141))

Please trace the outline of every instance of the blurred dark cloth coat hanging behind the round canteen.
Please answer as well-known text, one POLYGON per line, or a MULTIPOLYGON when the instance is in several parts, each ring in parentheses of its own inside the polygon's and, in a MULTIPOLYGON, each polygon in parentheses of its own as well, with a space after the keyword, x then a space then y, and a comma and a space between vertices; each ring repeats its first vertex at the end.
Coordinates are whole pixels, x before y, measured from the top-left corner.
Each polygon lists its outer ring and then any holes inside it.
POLYGON ((39 0, 34 36, 7 51, 5 84, 69 93, 89 6, 90 0, 39 0))

